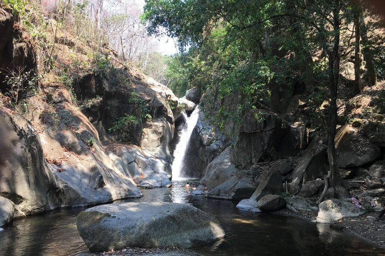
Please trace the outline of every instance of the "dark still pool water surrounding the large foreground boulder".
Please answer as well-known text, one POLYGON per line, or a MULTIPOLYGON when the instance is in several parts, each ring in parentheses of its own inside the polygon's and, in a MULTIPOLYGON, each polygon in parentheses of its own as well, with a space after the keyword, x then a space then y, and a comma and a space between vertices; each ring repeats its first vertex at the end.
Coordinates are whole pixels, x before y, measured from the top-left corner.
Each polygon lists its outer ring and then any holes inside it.
MULTIPOLYGON (((194 182, 190 181, 191 186, 194 182)), ((143 190, 143 197, 123 201, 188 203, 221 222, 227 236, 194 248, 204 255, 385 255, 385 248, 346 231, 330 229, 301 218, 274 213, 251 213, 237 202, 196 196, 174 181, 171 188, 143 190)), ((85 208, 59 209, 17 219, 0 232, 0 255, 77 255, 88 251, 76 229, 76 215, 85 208)))

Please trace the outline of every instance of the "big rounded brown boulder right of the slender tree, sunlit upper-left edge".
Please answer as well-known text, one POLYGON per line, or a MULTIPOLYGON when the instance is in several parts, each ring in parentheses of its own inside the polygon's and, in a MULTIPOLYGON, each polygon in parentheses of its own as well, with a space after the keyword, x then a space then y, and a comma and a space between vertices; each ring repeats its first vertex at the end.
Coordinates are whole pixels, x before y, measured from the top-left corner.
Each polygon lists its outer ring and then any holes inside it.
POLYGON ((337 163, 341 168, 361 166, 374 161, 380 154, 380 148, 362 137, 349 124, 343 126, 335 135, 337 163))

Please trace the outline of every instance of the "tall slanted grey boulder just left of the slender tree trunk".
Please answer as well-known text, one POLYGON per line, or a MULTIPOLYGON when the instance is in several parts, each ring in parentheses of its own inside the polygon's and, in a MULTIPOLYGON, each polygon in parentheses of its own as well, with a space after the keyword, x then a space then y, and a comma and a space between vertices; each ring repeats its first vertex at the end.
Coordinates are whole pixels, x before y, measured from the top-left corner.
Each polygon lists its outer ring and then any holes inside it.
POLYGON ((327 150, 325 142, 324 136, 317 136, 310 142, 291 174, 290 192, 297 194, 304 183, 324 174, 327 150))

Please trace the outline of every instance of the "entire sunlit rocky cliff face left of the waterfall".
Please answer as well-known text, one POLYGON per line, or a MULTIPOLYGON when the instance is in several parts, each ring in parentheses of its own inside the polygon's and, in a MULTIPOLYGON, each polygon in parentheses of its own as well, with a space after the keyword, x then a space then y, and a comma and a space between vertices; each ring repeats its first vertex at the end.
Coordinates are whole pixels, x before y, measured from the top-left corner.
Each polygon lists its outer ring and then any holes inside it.
POLYGON ((174 117, 181 110, 172 91, 112 63, 78 75, 71 90, 55 76, 43 83, 34 78, 29 35, 14 23, 0 9, 0 67, 9 71, 0 74, 0 226, 47 209, 139 197, 137 186, 169 186, 174 117), (13 77, 27 73, 33 89, 26 93, 21 83, 23 92, 11 94, 12 70, 23 70, 13 77))

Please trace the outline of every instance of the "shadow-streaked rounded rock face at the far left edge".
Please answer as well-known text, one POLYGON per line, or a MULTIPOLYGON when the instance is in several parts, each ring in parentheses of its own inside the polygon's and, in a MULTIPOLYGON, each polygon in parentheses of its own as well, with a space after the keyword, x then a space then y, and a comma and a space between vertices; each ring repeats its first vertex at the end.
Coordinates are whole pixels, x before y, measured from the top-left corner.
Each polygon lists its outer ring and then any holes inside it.
POLYGON ((39 134, 28 120, 3 110, 0 130, 4 159, 0 163, 0 195, 19 205, 26 215, 52 208, 47 194, 58 189, 58 184, 44 158, 39 134))

